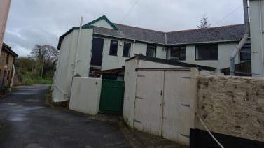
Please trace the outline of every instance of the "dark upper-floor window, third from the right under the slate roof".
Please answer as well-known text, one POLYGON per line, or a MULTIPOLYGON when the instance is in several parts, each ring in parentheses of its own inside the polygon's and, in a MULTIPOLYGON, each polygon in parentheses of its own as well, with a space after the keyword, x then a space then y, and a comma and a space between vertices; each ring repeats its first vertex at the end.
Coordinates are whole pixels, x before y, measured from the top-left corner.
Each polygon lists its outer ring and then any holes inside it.
POLYGON ((172 60, 185 60, 185 46, 169 47, 170 59, 172 60))

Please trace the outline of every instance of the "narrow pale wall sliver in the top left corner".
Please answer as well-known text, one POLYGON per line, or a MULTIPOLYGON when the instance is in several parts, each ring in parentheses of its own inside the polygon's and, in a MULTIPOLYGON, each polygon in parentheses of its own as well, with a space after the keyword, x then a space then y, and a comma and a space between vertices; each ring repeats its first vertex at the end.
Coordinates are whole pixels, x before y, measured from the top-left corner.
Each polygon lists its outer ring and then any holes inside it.
POLYGON ((0 53, 4 39, 4 32, 6 30, 6 22, 10 8, 11 0, 0 0, 0 53))

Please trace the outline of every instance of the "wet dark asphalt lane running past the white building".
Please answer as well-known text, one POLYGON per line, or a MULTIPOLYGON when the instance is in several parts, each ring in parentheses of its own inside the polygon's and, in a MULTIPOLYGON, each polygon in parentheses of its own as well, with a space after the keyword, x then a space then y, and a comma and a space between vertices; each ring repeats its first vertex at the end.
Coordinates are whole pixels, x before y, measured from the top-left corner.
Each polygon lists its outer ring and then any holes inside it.
POLYGON ((7 133, 0 147, 131 147, 116 124, 46 108, 46 89, 41 84, 23 86, 0 98, 0 121, 6 122, 7 133))

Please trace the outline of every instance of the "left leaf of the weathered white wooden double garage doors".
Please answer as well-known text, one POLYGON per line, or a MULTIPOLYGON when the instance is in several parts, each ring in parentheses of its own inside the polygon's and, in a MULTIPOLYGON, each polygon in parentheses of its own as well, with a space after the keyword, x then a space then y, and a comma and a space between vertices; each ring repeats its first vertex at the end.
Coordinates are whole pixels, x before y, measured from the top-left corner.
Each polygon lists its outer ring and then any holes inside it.
POLYGON ((138 71, 134 108, 134 128, 146 133, 162 133, 163 71, 138 71))

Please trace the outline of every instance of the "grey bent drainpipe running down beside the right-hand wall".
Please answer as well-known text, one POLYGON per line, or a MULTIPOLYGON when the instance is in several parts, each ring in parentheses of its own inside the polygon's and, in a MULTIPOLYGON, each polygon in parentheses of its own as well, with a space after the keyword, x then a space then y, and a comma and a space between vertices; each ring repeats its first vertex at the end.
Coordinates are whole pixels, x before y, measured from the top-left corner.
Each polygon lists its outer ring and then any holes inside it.
POLYGON ((235 57, 237 57, 237 54, 242 49, 244 44, 246 43, 246 40, 249 38, 249 6, 248 6, 248 0, 244 1, 244 23, 245 23, 245 34, 242 40, 239 42, 237 47, 235 47, 235 50, 230 54, 230 75, 235 75, 235 57))

